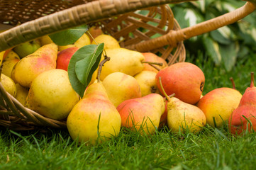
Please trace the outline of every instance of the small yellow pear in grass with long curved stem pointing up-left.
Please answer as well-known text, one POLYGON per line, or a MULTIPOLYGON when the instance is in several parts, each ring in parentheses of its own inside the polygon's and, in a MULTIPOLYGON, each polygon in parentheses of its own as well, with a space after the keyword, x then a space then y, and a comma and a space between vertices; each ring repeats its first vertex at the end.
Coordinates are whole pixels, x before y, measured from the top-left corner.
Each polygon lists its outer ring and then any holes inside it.
POLYGON ((161 77, 159 82, 165 97, 167 98, 167 125, 172 132, 192 132, 197 133, 206 125, 206 116, 200 108, 185 103, 175 94, 167 96, 163 89, 161 77))

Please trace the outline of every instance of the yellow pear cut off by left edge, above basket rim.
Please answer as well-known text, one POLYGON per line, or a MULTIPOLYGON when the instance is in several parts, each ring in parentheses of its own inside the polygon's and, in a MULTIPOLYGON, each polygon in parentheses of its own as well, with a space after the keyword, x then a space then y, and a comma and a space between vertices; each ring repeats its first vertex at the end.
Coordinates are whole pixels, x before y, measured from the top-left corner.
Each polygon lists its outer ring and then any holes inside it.
POLYGON ((11 94, 11 96, 16 96, 16 86, 14 81, 10 77, 6 77, 6 75, 1 74, 1 84, 4 86, 4 89, 11 94))

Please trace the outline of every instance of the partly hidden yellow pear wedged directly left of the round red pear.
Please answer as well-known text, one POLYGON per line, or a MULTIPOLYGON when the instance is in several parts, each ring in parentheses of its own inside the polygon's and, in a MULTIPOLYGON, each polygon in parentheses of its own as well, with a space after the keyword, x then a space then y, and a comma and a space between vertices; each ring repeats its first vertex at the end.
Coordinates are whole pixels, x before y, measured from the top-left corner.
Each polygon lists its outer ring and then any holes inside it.
POLYGON ((160 94, 157 84, 155 82, 156 72, 143 70, 135 75, 135 79, 140 84, 141 96, 147 96, 148 94, 160 94))

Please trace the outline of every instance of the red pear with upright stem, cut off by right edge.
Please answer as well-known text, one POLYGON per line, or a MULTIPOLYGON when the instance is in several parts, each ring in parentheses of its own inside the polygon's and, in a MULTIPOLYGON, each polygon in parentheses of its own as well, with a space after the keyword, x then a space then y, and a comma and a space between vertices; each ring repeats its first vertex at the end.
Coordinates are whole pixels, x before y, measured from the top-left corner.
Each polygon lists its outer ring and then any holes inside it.
POLYGON ((254 73, 251 73, 251 84, 243 94, 238 108, 235 108, 228 120, 230 132, 233 135, 243 134, 245 131, 256 130, 256 87, 254 73))

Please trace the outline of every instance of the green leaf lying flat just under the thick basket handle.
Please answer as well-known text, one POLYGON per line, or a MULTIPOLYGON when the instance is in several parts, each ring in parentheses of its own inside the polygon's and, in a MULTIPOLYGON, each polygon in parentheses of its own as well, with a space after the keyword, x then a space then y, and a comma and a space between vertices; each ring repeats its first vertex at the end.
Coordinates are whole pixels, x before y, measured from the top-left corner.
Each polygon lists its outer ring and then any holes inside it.
POLYGON ((87 25, 77 26, 62 30, 58 33, 50 34, 50 38, 56 45, 64 46, 74 44, 82 35, 87 32, 87 25))

